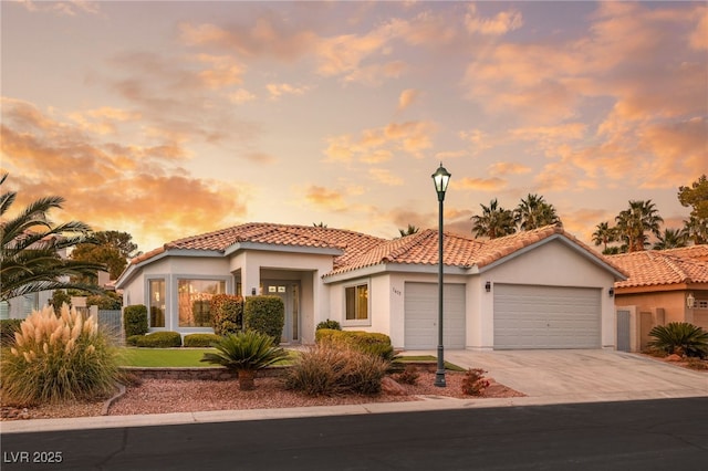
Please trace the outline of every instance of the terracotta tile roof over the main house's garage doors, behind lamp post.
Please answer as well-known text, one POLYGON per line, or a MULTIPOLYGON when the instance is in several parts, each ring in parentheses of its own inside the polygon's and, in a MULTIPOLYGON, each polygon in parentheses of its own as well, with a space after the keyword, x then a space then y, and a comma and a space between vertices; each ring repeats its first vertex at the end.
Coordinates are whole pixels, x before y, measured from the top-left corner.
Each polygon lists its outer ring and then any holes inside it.
MULTIPOLYGON (((454 233, 445 233, 442 239, 442 259, 446 265, 454 266, 487 266, 496 261, 511 255, 518 250, 532 245, 539 241, 560 234, 590 255, 601 259, 616 271, 623 271, 605 257, 585 245, 559 226, 546 226, 540 229, 523 231, 512 236, 492 240, 473 239, 454 233)), ((437 264, 438 263, 438 233, 429 229, 413 236, 395 239, 377 245, 366 253, 352 258, 351 262, 330 273, 337 274, 379 263, 410 263, 410 264, 437 264)))

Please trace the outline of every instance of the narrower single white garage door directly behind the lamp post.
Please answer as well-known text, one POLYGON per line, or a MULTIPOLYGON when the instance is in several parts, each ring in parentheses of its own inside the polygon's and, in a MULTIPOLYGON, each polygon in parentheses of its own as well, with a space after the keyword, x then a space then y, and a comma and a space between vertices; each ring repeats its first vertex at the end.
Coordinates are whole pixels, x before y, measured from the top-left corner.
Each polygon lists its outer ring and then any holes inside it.
MULTIPOLYGON (((405 284, 405 348, 438 346, 438 285, 405 284)), ((445 348, 465 348, 465 285, 442 287, 442 343, 445 348)))

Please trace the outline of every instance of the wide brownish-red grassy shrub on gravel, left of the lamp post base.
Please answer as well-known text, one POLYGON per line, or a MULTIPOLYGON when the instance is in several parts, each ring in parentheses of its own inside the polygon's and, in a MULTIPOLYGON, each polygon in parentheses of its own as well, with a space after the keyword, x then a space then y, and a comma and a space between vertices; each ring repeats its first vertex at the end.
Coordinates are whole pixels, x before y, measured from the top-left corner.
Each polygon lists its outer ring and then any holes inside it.
POLYGON ((316 345, 295 359, 284 386, 308 396, 376 395, 387 368, 382 358, 353 348, 316 345))

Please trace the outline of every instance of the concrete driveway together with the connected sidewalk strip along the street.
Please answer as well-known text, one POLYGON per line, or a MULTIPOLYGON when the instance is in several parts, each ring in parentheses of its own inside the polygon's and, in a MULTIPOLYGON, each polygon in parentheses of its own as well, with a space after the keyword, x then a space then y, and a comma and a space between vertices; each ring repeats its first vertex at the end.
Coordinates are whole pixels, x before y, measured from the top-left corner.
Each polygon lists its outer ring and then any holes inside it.
MULTIPOLYGON (((407 352, 404 355, 436 355, 407 352)), ((426 396, 419 401, 374 402, 335 407, 217 410, 143 416, 101 416, 0 422, 4 433, 75 429, 148 427, 300 417, 414 412, 551 404, 602 402, 708 396, 708 373, 693 371, 634 354, 612 350, 450 350, 445 359, 488 376, 527 397, 455 399, 426 396)))

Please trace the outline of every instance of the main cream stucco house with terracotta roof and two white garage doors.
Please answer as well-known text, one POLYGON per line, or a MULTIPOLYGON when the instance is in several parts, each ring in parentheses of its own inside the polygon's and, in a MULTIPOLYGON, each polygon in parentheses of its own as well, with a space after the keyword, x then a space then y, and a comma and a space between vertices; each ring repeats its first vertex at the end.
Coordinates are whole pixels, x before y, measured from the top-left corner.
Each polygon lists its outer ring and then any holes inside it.
MULTIPOLYGON (((624 272, 562 227, 477 240, 446 233, 446 348, 613 348, 612 289, 624 272)), ((150 331, 210 332, 216 293, 285 303, 283 343, 311 344, 324 320, 381 332, 395 347, 437 345, 438 236, 386 240, 341 229, 246 223, 189 237, 131 261, 124 305, 150 331)))

